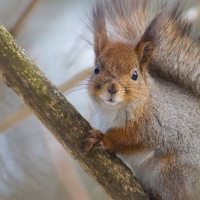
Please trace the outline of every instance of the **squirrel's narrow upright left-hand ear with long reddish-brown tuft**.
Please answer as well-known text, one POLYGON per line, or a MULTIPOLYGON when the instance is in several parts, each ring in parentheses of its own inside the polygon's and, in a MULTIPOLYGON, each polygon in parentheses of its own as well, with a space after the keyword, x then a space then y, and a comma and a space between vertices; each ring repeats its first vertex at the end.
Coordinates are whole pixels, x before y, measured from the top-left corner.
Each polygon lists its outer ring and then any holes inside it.
POLYGON ((100 5, 99 1, 97 1, 93 8, 92 25, 94 34, 94 53, 95 56, 98 57, 108 43, 105 13, 103 6, 100 5))

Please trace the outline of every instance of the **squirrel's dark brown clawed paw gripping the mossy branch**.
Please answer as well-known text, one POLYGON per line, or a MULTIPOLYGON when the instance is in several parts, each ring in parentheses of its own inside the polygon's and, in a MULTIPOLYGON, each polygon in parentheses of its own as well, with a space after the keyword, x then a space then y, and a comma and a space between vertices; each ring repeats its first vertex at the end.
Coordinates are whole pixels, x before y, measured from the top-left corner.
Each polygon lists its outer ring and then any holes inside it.
POLYGON ((92 147, 95 149, 105 149, 103 144, 104 134, 99 130, 91 130, 84 140, 84 151, 89 151, 92 147))

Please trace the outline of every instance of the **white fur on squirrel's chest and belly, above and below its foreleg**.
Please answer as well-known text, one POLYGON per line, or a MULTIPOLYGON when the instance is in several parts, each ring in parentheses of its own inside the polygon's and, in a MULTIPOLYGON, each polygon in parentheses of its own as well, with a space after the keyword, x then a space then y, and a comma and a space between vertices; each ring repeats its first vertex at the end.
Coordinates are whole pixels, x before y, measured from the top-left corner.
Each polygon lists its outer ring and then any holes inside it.
MULTIPOLYGON (((120 108, 107 108, 92 105, 90 113, 90 123, 96 130, 106 133, 110 128, 123 127, 126 125, 126 114, 120 108)), ((133 133, 134 134, 134 133, 133 133)), ((151 166, 151 159, 154 151, 144 151, 133 155, 118 155, 132 170, 133 174, 140 179, 145 185, 148 185, 152 178, 152 171, 157 171, 155 166, 151 166), (147 167, 148 166, 148 167, 147 167), (150 167, 151 166, 151 167, 150 167)))

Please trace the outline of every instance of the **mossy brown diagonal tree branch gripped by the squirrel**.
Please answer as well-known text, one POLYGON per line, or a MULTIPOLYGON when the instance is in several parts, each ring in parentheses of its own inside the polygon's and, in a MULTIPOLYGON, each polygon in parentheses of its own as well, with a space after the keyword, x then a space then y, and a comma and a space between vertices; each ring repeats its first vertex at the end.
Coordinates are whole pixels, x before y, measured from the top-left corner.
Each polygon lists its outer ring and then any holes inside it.
POLYGON ((112 199, 148 199, 131 171, 117 156, 100 151, 83 152, 82 141, 91 129, 89 123, 2 26, 0 76, 112 199))

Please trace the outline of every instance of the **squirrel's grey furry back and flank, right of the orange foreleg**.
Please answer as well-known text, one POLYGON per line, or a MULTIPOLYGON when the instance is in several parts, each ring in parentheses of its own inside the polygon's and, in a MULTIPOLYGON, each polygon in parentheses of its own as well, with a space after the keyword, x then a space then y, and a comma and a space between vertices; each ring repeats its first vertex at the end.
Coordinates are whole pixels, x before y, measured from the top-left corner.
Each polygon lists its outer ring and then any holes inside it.
POLYGON ((156 188, 163 199, 198 200, 200 99, 159 78, 153 78, 149 90, 151 114, 143 134, 149 134, 147 138, 158 145, 138 168, 134 166, 134 158, 131 165, 139 170, 139 180, 150 184, 149 188, 156 188))

